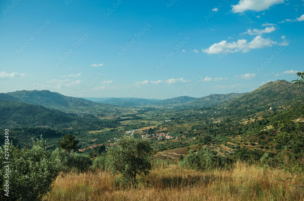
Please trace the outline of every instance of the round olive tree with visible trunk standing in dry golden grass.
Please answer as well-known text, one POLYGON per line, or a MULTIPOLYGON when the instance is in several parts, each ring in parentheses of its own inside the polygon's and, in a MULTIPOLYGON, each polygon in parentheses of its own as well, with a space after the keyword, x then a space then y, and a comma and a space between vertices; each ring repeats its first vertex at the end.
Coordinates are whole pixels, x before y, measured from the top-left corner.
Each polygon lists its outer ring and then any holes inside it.
POLYGON ((118 147, 108 149, 108 163, 112 173, 121 173, 124 179, 136 187, 136 176, 147 175, 152 169, 152 147, 149 140, 137 140, 124 136, 118 147))

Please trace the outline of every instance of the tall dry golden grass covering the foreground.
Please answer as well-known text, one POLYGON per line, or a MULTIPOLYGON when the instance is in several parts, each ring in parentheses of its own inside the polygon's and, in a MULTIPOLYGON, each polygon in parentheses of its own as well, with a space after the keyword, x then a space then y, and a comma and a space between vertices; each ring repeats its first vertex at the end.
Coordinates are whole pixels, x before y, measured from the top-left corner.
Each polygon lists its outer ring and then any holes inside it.
POLYGON ((139 176, 137 188, 124 187, 108 171, 88 171, 60 175, 53 191, 44 199, 55 200, 304 200, 304 190, 288 186, 275 178, 294 177, 301 183, 302 175, 283 170, 265 170, 246 162, 232 164, 231 170, 198 172, 179 164, 158 162, 147 176, 139 176))

